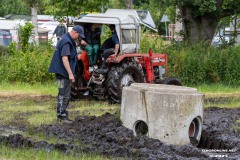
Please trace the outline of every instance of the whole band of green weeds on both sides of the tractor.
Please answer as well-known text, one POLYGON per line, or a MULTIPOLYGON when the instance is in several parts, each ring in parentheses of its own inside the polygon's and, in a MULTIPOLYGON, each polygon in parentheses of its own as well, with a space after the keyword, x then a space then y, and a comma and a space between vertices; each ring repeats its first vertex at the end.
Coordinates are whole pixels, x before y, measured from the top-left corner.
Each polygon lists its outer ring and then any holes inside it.
MULTIPOLYGON (((109 35, 108 30, 105 34, 109 35)), ((153 53, 168 53, 169 76, 181 79, 184 85, 240 84, 240 47, 214 48, 203 43, 166 46, 159 37, 141 35, 141 53, 148 53, 150 48, 153 53)), ((7 50, 8 56, 0 56, 1 81, 34 84, 54 80, 54 75, 48 73, 53 54, 50 45, 29 47, 23 52, 11 44, 7 50)))

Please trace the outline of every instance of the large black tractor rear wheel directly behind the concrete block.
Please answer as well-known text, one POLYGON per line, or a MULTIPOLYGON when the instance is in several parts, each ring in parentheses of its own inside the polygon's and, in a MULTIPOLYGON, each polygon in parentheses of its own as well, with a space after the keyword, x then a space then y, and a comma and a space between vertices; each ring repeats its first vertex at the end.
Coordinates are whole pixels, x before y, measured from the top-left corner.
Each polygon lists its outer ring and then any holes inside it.
POLYGON ((106 81, 108 98, 112 102, 120 103, 123 87, 143 82, 143 70, 137 62, 123 62, 113 66, 106 81))

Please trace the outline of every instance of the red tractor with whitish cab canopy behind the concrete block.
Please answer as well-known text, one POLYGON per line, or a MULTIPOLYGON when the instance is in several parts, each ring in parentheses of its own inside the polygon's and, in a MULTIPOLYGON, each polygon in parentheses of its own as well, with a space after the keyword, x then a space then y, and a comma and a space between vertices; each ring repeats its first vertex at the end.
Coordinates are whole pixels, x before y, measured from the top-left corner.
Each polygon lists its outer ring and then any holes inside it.
MULTIPOLYGON (((87 52, 80 51, 76 83, 72 87, 73 99, 90 95, 99 100, 120 103, 122 88, 131 83, 182 85, 178 79, 168 77, 167 54, 152 53, 151 49, 147 54, 139 53, 140 24, 155 29, 148 11, 109 9, 104 14, 87 14, 74 23, 83 27, 89 23, 115 25, 120 54, 107 59, 107 74, 99 74, 89 70, 87 52)), ((100 64, 101 61, 98 67, 100 64)))

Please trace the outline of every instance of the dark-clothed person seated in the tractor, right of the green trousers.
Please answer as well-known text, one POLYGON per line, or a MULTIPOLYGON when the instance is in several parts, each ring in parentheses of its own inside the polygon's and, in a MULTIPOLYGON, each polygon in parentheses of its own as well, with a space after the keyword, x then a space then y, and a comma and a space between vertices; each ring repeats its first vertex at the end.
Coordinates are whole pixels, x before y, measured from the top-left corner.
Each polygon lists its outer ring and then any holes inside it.
POLYGON ((117 54, 119 53, 119 48, 120 48, 119 47, 120 46, 119 45, 119 39, 118 39, 118 36, 117 36, 115 25, 109 25, 109 28, 112 32, 112 37, 106 39, 102 44, 102 50, 103 50, 103 54, 102 54, 103 64, 102 64, 102 67, 100 69, 95 70, 96 73, 100 73, 100 74, 108 73, 109 68, 107 68, 106 60, 110 55, 116 57, 117 54))

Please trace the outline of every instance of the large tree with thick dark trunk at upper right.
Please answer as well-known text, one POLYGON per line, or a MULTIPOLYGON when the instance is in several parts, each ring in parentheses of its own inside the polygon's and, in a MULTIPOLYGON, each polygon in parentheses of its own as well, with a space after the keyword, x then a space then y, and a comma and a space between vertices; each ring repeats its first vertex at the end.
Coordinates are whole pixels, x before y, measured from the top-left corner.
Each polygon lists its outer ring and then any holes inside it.
POLYGON ((180 10, 188 42, 211 42, 219 21, 240 13, 239 0, 165 0, 180 10))

